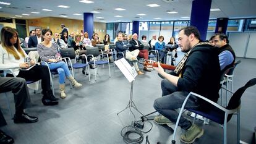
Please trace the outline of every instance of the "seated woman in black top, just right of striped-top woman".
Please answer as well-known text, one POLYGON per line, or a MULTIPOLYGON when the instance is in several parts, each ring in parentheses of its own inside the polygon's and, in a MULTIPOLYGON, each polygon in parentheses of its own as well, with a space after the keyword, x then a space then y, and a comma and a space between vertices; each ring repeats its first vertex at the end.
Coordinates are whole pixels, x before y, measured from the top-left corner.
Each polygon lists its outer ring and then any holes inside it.
MULTIPOLYGON (((81 41, 81 35, 80 33, 75 34, 75 40, 71 43, 71 48, 75 49, 75 55, 81 56, 82 54, 86 55, 86 48, 85 44, 83 44, 83 41, 81 41)), ((86 63, 85 56, 79 57, 79 59, 82 59, 82 63, 86 63)), ((85 69, 82 70, 82 74, 85 75, 85 69)))

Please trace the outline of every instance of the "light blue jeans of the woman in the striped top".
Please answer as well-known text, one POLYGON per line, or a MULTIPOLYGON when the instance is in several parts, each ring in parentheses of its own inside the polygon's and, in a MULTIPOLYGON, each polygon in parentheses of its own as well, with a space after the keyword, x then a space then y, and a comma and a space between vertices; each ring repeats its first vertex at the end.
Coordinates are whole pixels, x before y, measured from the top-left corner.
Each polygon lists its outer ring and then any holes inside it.
POLYGON ((65 76, 69 77, 71 75, 69 67, 67 67, 67 64, 64 61, 51 62, 48 65, 50 70, 56 70, 58 72, 60 84, 65 83, 65 76))

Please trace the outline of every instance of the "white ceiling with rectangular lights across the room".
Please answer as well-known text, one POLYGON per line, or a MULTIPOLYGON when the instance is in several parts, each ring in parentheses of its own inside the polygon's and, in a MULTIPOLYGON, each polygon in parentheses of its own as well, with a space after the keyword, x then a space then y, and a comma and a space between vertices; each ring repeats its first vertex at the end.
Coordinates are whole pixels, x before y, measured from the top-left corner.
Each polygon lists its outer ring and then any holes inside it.
MULTIPOLYGON (((83 12, 99 11, 94 14, 95 22, 129 22, 132 20, 139 21, 155 21, 156 17, 160 20, 189 20, 181 17, 190 17, 192 0, 174 0, 173 2, 165 2, 164 0, 91 0, 92 4, 85 4, 79 0, 0 0, 10 2, 11 5, 6 6, 0 4, 0 17, 16 17, 17 19, 35 19, 40 17, 60 17, 67 15, 67 19, 83 20, 83 12), (147 4, 158 4, 160 7, 148 7, 147 4), (59 5, 69 6, 69 8, 57 7, 59 5), (125 11, 116 11, 114 8, 121 7, 125 11), (53 11, 41 11, 42 9, 51 9, 53 11), (32 14, 31 12, 40 12, 40 14, 32 14), (177 14, 168 14, 166 11, 176 11, 177 14), (82 15, 73 15, 73 14, 82 15), (140 16, 137 14, 147 14, 140 16), (114 15, 122 15, 123 17, 114 17, 114 15), (98 19, 96 17, 104 17, 98 19)), ((231 18, 248 18, 256 17, 256 0, 212 0, 211 9, 220 9, 221 11, 210 12, 210 19, 218 17, 231 18)))

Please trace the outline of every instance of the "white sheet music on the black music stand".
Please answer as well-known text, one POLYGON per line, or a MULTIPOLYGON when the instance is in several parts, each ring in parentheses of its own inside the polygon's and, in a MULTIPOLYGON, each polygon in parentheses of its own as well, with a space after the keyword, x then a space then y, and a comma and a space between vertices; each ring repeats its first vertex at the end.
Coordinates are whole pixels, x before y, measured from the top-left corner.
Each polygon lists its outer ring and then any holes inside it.
POLYGON ((135 68, 130 66, 126 59, 122 58, 114 62, 116 66, 121 70, 122 74, 127 78, 129 82, 135 80, 135 77, 138 75, 135 68))

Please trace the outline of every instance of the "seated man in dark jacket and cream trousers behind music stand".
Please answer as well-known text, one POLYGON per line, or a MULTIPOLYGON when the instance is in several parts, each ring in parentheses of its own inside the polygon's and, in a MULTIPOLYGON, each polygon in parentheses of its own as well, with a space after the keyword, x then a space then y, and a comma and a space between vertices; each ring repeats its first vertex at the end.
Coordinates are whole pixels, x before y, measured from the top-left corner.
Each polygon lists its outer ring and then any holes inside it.
POLYGON ((134 51, 129 51, 127 47, 127 42, 124 41, 124 34, 123 33, 118 33, 117 35, 118 41, 116 41, 116 50, 118 52, 124 53, 124 56, 126 59, 129 61, 132 61, 134 64, 134 68, 137 71, 139 75, 144 75, 143 72, 140 71, 137 63, 137 56, 140 53, 139 49, 135 49, 134 51))

